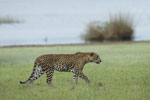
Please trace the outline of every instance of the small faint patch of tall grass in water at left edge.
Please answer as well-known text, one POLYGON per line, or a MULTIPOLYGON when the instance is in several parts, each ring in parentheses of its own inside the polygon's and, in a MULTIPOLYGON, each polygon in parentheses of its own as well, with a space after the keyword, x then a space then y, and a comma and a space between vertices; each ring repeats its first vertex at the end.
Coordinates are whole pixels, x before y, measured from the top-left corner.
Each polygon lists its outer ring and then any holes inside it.
POLYGON ((17 20, 15 18, 12 18, 10 16, 2 16, 0 17, 0 25, 1 24, 14 24, 14 23, 20 23, 20 20, 17 20))

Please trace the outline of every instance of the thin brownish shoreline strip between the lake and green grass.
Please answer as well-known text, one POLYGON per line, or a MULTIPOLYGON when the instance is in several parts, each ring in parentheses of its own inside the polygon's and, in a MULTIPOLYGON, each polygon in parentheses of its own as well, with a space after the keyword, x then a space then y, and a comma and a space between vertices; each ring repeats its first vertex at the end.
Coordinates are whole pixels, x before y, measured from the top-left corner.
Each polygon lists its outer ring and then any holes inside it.
POLYGON ((94 43, 79 43, 79 44, 35 44, 35 45, 8 45, 0 46, 0 48, 17 48, 17 47, 56 47, 56 46, 86 46, 86 45, 111 45, 111 44, 135 44, 135 43, 150 43, 150 41, 107 41, 94 43))

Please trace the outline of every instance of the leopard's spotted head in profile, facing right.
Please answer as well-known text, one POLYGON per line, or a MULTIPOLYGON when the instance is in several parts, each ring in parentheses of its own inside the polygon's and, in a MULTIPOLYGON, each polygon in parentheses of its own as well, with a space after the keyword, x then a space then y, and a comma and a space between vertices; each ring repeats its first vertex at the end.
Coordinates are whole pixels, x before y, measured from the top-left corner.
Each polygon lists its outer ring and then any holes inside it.
POLYGON ((99 64, 100 62, 102 62, 100 56, 97 53, 94 53, 94 52, 90 52, 89 53, 88 59, 89 59, 89 62, 95 62, 97 64, 99 64))

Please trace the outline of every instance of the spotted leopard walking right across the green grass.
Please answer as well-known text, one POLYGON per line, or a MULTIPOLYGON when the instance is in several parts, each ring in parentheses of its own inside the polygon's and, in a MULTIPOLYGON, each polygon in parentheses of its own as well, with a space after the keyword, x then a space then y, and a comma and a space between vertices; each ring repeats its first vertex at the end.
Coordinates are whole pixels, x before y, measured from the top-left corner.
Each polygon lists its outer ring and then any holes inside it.
POLYGON ((45 54, 36 58, 30 77, 26 81, 20 81, 20 84, 29 83, 32 85, 33 81, 37 80, 44 73, 46 73, 46 82, 49 86, 55 87, 52 83, 54 71, 72 72, 73 73, 73 87, 78 84, 78 77, 90 83, 88 77, 83 73, 85 64, 95 62, 99 64, 102 62, 100 56, 95 52, 77 52, 74 54, 45 54))

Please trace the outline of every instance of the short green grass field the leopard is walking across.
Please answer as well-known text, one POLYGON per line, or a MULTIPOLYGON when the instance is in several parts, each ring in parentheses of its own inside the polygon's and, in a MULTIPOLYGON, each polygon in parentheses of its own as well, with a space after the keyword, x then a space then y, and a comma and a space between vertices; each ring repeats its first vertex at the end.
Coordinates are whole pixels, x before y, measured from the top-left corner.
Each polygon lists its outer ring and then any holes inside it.
POLYGON ((150 43, 95 44, 84 46, 0 48, 0 100, 149 100, 150 43), (32 87, 22 86, 32 72, 36 57, 47 53, 96 52, 102 63, 89 63, 74 90, 72 73, 55 72, 53 83, 46 75, 32 87))

